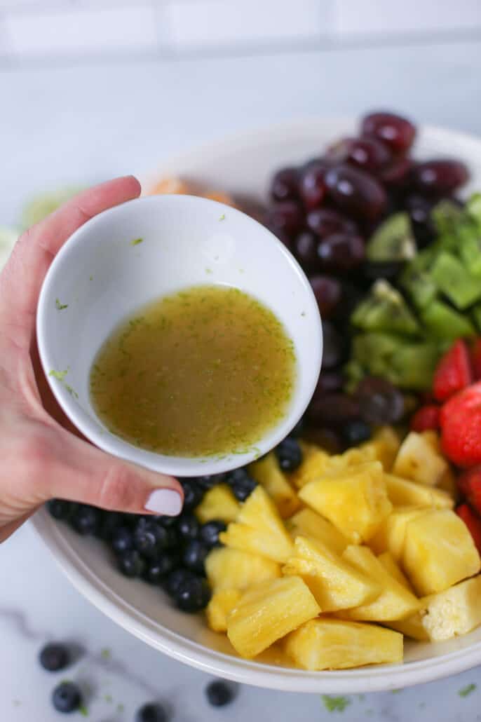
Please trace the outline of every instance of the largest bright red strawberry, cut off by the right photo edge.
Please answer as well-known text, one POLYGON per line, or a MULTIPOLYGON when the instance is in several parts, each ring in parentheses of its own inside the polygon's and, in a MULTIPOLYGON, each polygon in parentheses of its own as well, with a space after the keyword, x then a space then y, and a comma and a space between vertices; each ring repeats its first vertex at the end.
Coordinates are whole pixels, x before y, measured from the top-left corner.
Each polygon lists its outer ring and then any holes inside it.
POLYGON ((445 456, 457 466, 481 464, 481 381, 446 401, 440 422, 445 456))

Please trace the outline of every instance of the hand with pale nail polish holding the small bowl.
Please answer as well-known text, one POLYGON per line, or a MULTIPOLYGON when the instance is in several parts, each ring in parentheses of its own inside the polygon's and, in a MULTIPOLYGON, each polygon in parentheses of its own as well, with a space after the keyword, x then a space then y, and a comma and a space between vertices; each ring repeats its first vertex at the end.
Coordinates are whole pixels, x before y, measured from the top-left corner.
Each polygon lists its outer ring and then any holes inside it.
POLYGON ((48 387, 35 336, 40 287, 61 246, 90 218, 140 191, 126 176, 79 193, 21 236, 0 274, 0 541, 53 497, 131 513, 181 511, 176 479, 80 438, 48 387))

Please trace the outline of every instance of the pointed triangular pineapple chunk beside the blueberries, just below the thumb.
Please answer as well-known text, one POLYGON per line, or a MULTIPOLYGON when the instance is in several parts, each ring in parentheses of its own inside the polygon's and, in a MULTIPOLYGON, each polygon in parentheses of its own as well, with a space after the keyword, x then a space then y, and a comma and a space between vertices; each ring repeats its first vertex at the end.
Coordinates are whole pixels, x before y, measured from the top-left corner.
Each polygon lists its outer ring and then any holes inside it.
POLYGON ((293 554, 293 542, 276 506, 263 487, 254 489, 243 503, 237 521, 219 536, 222 544, 274 562, 286 562, 293 554))

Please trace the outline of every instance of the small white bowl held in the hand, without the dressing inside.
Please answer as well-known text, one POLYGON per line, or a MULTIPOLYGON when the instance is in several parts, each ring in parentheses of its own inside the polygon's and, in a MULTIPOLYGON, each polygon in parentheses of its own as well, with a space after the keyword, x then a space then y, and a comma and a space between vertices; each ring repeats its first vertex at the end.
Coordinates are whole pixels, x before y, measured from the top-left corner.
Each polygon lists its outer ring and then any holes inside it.
POLYGON ((267 453, 303 415, 321 368, 319 310, 297 261, 254 219, 194 196, 136 199, 79 228, 45 277, 37 331, 51 389, 82 434, 104 451, 179 477, 228 471, 267 453), (287 414, 243 454, 182 458, 145 451, 110 432, 90 400, 92 362, 119 321, 157 297, 197 284, 253 295, 274 311, 294 342, 298 371, 287 414))

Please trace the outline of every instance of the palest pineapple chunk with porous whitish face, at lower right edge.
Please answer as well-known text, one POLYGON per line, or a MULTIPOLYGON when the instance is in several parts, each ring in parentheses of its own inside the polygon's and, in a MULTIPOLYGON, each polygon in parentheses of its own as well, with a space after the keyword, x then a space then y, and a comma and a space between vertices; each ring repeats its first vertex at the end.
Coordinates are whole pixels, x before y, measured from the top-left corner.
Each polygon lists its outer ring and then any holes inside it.
POLYGON ((432 642, 467 634, 481 625, 481 576, 428 597, 423 627, 432 642))

